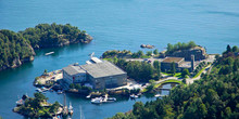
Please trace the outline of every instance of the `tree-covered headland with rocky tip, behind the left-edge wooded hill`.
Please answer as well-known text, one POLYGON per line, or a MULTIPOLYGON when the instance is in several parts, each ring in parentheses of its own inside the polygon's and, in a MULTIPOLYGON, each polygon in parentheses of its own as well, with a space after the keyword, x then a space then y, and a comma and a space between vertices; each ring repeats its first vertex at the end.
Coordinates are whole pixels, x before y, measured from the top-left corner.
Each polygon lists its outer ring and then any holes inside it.
POLYGON ((92 40, 85 30, 80 31, 77 27, 71 26, 70 24, 39 24, 35 28, 27 28, 24 31, 20 31, 20 34, 29 40, 34 49, 62 47, 64 44, 78 42, 88 43, 92 40))

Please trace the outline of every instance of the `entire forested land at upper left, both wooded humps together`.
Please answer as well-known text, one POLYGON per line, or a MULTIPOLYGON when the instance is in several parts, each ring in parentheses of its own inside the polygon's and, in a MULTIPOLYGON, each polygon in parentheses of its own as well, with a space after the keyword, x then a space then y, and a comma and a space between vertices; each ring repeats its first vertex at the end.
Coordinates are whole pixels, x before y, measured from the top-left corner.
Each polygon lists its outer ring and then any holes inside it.
POLYGON ((79 42, 89 43, 91 40, 92 37, 87 35, 85 30, 80 31, 70 24, 39 24, 35 28, 27 28, 18 32, 1 29, 0 71, 33 61, 34 49, 62 47, 79 42))

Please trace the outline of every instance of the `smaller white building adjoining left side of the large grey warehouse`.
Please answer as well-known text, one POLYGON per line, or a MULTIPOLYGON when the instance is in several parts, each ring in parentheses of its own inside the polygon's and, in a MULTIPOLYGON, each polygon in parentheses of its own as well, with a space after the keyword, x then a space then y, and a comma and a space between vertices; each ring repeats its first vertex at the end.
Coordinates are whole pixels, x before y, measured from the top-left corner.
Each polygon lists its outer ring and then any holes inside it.
POLYGON ((63 79, 68 84, 80 83, 86 81, 86 71, 81 69, 78 65, 70 65, 63 69, 63 79))

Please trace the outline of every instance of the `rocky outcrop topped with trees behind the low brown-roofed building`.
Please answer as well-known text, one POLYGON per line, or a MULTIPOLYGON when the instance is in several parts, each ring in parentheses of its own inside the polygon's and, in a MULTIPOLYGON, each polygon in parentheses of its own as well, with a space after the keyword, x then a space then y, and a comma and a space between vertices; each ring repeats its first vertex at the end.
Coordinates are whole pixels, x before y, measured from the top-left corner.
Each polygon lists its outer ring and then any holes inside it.
POLYGON ((191 61, 191 55, 194 55, 196 61, 207 58, 206 51, 202 47, 194 47, 189 50, 179 50, 171 54, 166 54, 166 56, 185 57, 185 61, 191 61))

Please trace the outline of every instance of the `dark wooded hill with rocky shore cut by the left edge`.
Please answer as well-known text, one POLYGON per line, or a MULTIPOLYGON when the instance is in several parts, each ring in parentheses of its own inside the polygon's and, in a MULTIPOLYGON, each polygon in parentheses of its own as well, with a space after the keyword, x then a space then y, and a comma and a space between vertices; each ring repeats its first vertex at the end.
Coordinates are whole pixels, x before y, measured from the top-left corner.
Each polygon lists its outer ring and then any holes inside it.
POLYGON ((21 34, 0 30, 0 70, 33 61, 35 52, 21 34))

